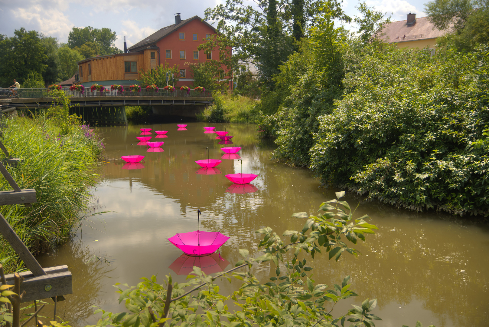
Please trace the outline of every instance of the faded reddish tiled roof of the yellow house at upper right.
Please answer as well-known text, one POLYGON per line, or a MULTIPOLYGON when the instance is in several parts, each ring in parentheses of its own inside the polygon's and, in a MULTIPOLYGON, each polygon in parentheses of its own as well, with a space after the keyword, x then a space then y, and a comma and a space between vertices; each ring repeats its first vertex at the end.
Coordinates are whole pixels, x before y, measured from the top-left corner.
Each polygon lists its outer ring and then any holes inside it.
POLYGON ((446 30, 439 30, 428 17, 421 17, 416 18, 415 23, 410 26, 407 25, 407 20, 385 24, 378 39, 388 43, 434 39, 445 35, 452 27, 453 24, 450 24, 446 30))

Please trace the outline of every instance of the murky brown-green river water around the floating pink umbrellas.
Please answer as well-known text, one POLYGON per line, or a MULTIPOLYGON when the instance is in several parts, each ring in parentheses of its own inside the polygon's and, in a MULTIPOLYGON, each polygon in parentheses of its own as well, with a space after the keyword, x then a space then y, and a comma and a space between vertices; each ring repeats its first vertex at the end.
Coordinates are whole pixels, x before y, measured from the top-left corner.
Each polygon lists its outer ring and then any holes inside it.
MULTIPOLYGON (((96 323, 99 315, 92 315, 90 305, 124 310, 114 293, 116 282, 135 285, 139 278, 154 274, 160 281, 168 274, 174 280, 177 272, 185 274, 185 267, 192 264, 180 257, 182 252, 167 237, 196 230, 197 209, 203 214, 202 230, 231 237, 220 256, 234 264, 240 260, 239 249, 256 254, 257 229, 270 226, 280 234, 300 229, 304 222, 290 218, 293 212, 313 213, 321 202, 334 198, 337 190, 319 188, 307 170, 271 161, 272 149, 257 145, 255 126, 215 125, 216 130, 230 131, 232 145, 218 144, 215 134, 203 133, 204 126, 209 125, 189 123, 186 131, 178 131, 176 124, 163 125, 168 138, 159 139, 165 143, 164 152, 158 153, 136 145, 143 126, 101 128, 109 158, 131 155, 131 143, 134 154, 146 157, 144 168, 136 170, 123 169, 121 160, 108 160, 94 194, 98 197, 95 209, 110 212, 92 217, 70 244, 40 258, 43 266, 67 264, 73 274, 73 294, 58 309, 73 326, 96 323), (220 174, 197 174, 200 167, 195 161, 207 159, 205 148, 210 159, 220 159, 224 146, 242 147, 238 154, 243 167, 238 160, 223 159, 217 167, 220 174), (259 175, 252 182, 254 192, 230 193, 232 184, 224 175, 241 168, 243 173, 259 175), (97 258, 106 258, 110 264, 97 258), (183 268, 176 268, 178 262, 183 268)), ((144 127, 160 130, 159 125, 144 127)), ((356 205, 357 199, 347 193, 350 204, 356 205)), ((357 212, 358 216, 369 214, 379 228, 377 235, 368 235, 365 243, 356 246, 362 255, 344 255, 338 262, 319 256, 311 263, 316 282, 333 284, 352 276, 359 296, 338 304, 333 313, 377 298, 375 313, 383 319, 376 323, 378 327, 415 326, 416 320, 437 327, 489 325, 487 225, 376 203, 361 203, 357 212)), ((214 257, 225 268, 226 261, 214 257)), ((201 264, 216 267, 209 261, 201 264)), ((263 280, 274 273, 268 264, 256 269, 263 280)), ((177 280, 185 280, 185 275, 178 275, 177 280)), ((238 286, 222 281, 226 293, 238 286)))

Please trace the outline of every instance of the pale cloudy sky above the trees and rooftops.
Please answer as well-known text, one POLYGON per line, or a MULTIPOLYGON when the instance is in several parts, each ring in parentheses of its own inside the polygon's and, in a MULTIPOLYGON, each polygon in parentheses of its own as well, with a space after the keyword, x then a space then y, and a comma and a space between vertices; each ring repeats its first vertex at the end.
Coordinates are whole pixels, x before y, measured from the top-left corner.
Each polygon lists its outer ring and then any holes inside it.
MULTIPOLYGON (((225 0, 0 0, 0 34, 14 36, 14 31, 24 27, 47 36, 54 36, 66 43, 73 27, 92 26, 111 28, 117 33, 115 46, 124 48, 124 36, 128 47, 141 41, 158 29, 174 24, 175 14, 181 19, 204 17, 208 7, 215 7, 225 0)), ((409 12, 424 17, 426 0, 367 0, 367 5, 386 12, 391 21, 406 20, 409 12)), ((244 0, 253 4, 253 0, 244 0)), ((347 15, 358 15, 356 0, 343 0, 347 15)), ((213 22, 208 22, 213 23, 213 22)), ((351 26, 353 29, 355 26, 351 26)))

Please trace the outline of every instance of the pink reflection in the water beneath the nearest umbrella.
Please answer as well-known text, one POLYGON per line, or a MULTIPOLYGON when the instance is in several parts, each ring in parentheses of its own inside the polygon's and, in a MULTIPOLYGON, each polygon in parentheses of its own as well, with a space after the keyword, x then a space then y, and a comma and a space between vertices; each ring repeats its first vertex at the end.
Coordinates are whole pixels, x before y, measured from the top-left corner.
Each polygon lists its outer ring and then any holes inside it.
POLYGON ((219 273, 229 265, 229 261, 219 254, 213 253, 206 257, 191 257, 181 255, 168 267, 177 275, 188 275, 194 271, 194 266, 199 267, 207 275, 219 273))

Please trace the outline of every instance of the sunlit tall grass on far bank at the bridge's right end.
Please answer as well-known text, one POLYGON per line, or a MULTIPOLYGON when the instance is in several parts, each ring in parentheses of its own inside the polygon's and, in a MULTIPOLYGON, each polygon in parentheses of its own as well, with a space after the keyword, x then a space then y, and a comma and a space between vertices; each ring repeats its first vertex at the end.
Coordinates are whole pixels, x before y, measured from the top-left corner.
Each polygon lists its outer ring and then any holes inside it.
POLYGON ((219 101, 212 104, 197 116, 200 121, 231 122, 231 123, 256 123, 261 114, 256 109, 259 100, 244 95, 223 95, 222 105, 219 101), (216 114, 218 113, 219 114, 216 114), (222 112, 222 114, 221 114, 222 112))

